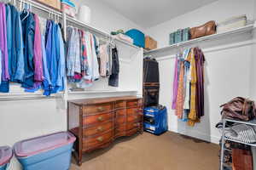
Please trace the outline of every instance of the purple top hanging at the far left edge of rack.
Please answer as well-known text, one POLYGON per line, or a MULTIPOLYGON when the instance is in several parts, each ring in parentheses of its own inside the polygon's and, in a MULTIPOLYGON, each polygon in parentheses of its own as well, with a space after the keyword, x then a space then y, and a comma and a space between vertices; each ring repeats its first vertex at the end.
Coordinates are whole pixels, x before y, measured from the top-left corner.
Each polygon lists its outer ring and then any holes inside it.
POLYGON ((2 51, 2 78, 3 81, 9 80, 9 57, 6 35, 6 10, 5 4, 0 3, 0 50, 2 51))

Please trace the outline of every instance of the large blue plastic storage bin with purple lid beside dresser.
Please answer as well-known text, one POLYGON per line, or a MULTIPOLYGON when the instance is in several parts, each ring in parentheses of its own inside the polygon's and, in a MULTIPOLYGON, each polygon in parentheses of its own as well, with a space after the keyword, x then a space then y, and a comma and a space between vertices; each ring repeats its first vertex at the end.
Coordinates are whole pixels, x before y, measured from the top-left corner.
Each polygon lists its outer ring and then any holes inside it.
POLYGON ((15 156, 23 170, 67 170, 75 137, 72 133, 52 133, 15 144, 15 156))

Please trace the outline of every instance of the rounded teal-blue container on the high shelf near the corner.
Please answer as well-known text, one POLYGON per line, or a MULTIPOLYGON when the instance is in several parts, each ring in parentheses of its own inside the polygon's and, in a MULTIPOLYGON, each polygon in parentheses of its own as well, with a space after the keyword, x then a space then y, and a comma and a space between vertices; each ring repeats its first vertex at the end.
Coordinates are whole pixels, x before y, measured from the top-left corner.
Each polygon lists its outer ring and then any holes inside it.
POLYGON ((145 35, 142 31, 137 29, 131 29, 125 32, 125 35, 131 37, 133 39, 133 44, 140 47, 145 48, 145 35))

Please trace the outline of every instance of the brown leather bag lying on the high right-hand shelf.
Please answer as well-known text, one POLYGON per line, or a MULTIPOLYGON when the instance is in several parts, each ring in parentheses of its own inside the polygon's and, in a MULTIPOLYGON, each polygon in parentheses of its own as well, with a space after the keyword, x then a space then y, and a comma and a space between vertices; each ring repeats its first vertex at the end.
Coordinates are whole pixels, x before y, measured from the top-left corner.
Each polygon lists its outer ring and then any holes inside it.
POLYGON ((198 37, 205 37, 216 33, 216 24, 214 20, 207 22, 202 26, 197 26, 190 28, 190 39, 195 39, 198 37))

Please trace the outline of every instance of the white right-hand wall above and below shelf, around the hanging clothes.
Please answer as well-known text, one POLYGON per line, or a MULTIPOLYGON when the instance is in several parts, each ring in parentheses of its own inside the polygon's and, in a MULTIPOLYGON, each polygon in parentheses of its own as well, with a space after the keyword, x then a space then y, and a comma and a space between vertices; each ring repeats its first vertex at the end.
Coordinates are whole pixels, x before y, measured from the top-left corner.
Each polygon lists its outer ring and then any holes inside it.
MULTIPOLYGON (((247 14, 253 20, 253 0, 219 0, 195 11, 183 14, 158 26, 148 28, 146 32, 165 47, 169 42, 169 33, 179 28, 200 26, 208 20, 225 20, 229 17, 247 14)), ((201 42, 198 45, 205 52, 205 116, 195 127, 177 120, 172 105, 172 82, 174 72, 174 54, 160 54, 160 104, 168 108, 169 130, 218 143, 220 133, 215 128, 220 121, 219 105, 236 96, 250 96, 250 61, 252 55, 251 35, 225 37, 213 42, 201 42)), ((153 55, 154 56, 154 55, 153 55)))

